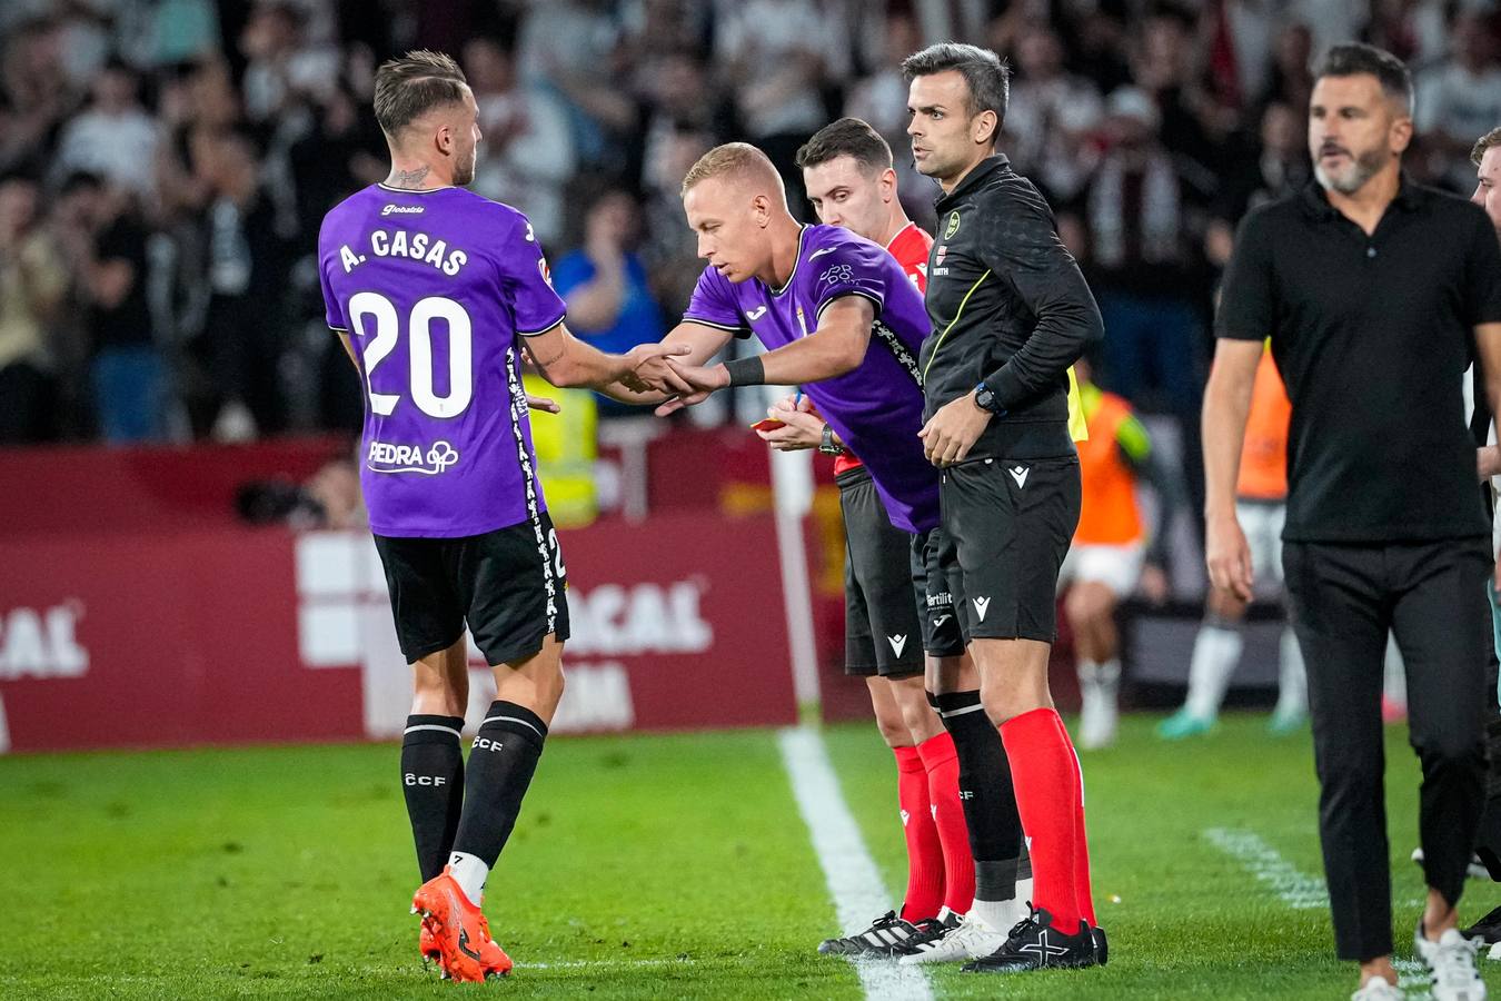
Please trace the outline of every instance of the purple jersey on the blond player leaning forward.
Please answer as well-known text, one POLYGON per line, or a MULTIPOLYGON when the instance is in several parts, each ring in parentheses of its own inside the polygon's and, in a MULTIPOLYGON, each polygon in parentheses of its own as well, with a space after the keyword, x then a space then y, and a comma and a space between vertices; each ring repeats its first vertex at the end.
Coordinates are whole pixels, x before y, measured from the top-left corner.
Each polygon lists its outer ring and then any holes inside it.
POLYGON ((923 456, 923 387, 917 350, 928 336, 923 296, 895 257, 841 227, 803 227, 797 264, 782 288, 738 285, 704 269, 683 320, 755 333, 779 348, 818 329, 824 308, 845 296, 875 306, 871 348, 860 368, 803 387, 824 420, 860 456, 892 524, 938 525, 938 470, 923 456))

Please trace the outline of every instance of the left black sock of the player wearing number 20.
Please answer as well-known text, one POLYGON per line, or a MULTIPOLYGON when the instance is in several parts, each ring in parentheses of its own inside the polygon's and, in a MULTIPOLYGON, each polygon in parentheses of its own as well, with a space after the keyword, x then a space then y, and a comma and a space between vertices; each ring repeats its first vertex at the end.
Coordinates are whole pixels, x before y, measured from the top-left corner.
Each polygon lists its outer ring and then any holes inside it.
POLYGON ((408 716, 401 738, 401 791, 422 881, 443 872, 464 807, 462 716, 408 716))

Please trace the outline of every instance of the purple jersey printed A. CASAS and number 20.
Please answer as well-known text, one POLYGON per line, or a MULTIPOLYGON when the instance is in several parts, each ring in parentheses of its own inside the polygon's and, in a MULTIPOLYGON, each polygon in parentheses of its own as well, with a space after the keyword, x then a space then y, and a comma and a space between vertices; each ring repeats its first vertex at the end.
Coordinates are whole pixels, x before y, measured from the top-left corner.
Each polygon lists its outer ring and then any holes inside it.
POLYGON ((365 381, 371 531, 452 539, 536 519, 521 338, 564 308, 527 218, 462 188, 375 185, 324 216, 318 278, 365 381))

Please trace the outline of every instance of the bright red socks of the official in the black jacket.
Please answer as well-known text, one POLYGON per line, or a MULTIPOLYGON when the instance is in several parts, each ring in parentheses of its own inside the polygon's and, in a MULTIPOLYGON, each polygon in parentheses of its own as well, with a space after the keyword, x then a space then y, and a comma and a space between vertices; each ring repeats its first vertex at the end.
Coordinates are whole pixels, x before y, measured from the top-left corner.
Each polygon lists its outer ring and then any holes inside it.
POLYGON ((1075 935, 1082 915, 1073 885, 1079 813, 1073 744, 1051 708, 1034 708, 1006 720, 1001 741, 1012 765, 1016 812, 1031 839, 1033 905, 1052 914, 1060 932, 1075 935))

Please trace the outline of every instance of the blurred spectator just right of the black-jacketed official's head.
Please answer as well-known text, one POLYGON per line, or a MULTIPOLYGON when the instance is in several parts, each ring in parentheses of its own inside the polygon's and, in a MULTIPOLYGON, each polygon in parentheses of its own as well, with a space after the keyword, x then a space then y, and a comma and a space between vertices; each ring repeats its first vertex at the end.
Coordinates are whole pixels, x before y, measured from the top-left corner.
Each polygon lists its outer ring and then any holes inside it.
MULTIPOLYGON (((1006 152, 1021 174, 1031 177, 1048 200, 1069 204, 1094 168, 1087 140, 1103 108, 1093 84, 1064 72, 1063 45, 1049 29, 1024 29, 1016 44, 1018 74, 1006 110, 1006 152)), ((905 107, 905 102, 904 102, 905 107)))

